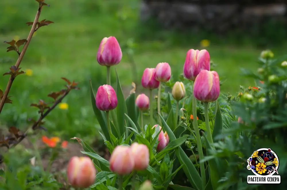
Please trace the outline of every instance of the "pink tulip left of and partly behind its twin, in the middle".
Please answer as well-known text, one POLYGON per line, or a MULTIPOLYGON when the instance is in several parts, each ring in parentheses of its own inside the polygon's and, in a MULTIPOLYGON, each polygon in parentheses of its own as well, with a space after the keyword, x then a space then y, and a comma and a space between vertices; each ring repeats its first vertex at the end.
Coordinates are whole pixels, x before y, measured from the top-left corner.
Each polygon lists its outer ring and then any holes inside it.
POLYGON ((155 68, 146 68, 141 78, 141 85, 146 89, 157 89, 160 82, 154 78, 155 68))

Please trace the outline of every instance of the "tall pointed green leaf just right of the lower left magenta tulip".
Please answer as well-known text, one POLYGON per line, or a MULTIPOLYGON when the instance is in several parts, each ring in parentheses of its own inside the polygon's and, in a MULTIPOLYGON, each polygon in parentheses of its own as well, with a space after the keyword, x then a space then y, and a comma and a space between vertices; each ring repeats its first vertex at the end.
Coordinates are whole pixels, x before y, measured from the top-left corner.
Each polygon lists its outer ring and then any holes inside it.
POLYGON ((125 103, 125 97, 123 94, 123 90, 120 84, 120 80, 119 80, 119 76, 117 73, 117 70, 115 68, 116 71, 116 76, 117 76, 117 99, 118 99, 118 105, 117 105, 117 120, 118 120, 118 124, 119 124, 119 132, 120 135, 122 135, 125 132, 125 114, 127 113, 127 105, 125 103))

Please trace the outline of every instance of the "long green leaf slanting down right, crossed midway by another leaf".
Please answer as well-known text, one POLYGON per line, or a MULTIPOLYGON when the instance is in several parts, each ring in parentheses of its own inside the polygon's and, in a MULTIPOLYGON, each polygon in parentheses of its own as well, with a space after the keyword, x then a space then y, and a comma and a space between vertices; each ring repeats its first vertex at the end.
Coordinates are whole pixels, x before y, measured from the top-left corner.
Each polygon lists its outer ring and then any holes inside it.
MULTIPOLYGON (((172 130, 168 127, 166 122, 164 121, 163 117, 159 114, 160 119, 162 120, 162 124, 166 130, 166 133, 169 136, 170 140, 175 140, 176 137, 174 136, 172 130)), ((183 167, 183 170, 185 172, 185 175, 187 176, 187 179, 191 183, 195 189, 202 190, 202 182, 201 182, 201 177, 199 173, 197 172, 195 166, 189 159, 189 157, 185 154, 183 149, 179 146, 178 148, 175 148, 175 153, 177 155, 177 158, 179 159, 180 164, 185 164, 183 167)))

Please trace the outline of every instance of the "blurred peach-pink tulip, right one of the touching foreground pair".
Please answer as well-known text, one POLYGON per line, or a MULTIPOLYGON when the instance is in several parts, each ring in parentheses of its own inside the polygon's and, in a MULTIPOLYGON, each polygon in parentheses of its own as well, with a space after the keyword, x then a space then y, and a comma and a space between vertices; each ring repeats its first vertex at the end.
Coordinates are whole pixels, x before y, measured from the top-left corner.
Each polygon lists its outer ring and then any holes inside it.
POLYGON ((150 151, 145 144, 134 142, 131 144, 131 152, 135 161, 135 170, 145 170, 150 163, 150 151))

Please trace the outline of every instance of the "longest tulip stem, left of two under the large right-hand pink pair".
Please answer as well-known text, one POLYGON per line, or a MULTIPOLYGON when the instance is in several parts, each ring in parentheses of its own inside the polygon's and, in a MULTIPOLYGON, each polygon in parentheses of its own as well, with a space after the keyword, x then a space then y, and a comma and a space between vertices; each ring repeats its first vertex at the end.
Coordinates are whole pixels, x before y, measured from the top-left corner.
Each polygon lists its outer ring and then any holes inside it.
MULTIPOLYGON (((195 131, 199 161, 201 161, 203 160, 203 150, 202 150, 202 144, 201 144, 201 139, 200 139, 200 134, 199 134, 199 128, 197 124, 196 99, 194 95, 192 97, 192 115, 193 115, 193 128, 195 131)), ((199 167, 200 167, 200 173, 201 173, 202 187, 204 188, 206 185, 204 162, 199 162, 199 167)))

